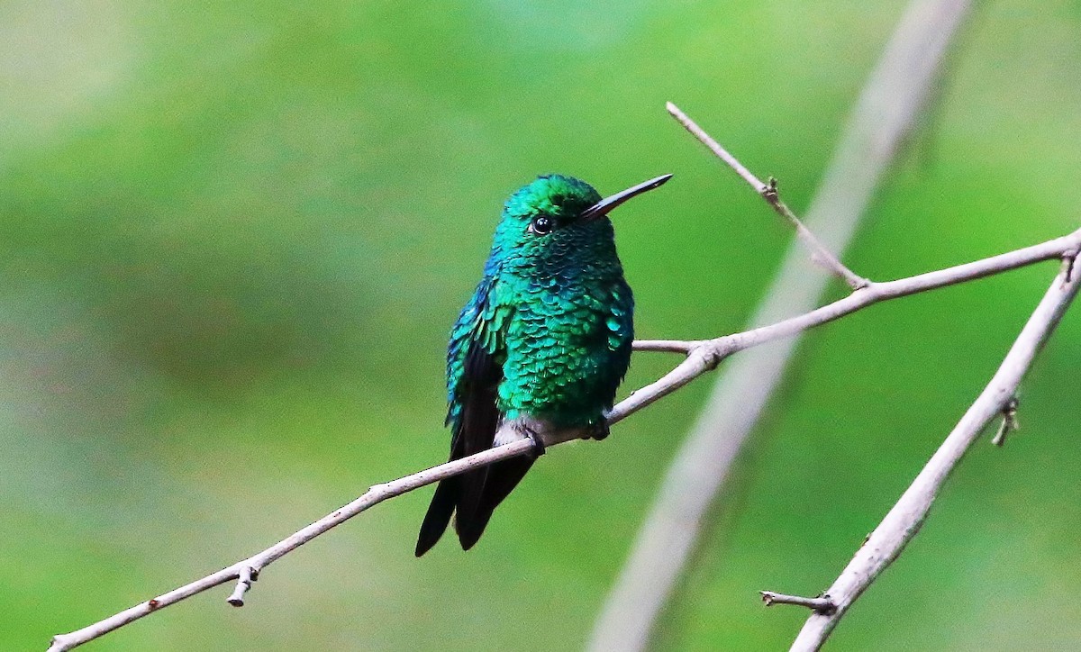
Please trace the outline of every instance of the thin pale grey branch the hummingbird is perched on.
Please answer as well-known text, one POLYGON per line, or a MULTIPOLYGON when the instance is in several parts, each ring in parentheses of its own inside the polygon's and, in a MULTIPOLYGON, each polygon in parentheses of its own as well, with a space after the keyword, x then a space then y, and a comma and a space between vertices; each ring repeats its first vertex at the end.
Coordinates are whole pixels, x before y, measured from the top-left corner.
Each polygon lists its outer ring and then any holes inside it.
MULTIPOLYGON (((656 400, 676 391, 680 387, 702 376, 706 372, 716 369, 717 365, 729 356, 755 346, 787 337, 801 331, 820 325, 845 315, 860 310, 871 304, 917 294, 929 290, 935 290, 946 285, 962 283, 979 279, 993 274, 1000 274, 1016 269, 1026 265, 1073 256, 1081 248, 1081 230, 1068 236, 1049 240, 1041 244, 1036 244, 1025 249, 1019 249, 998 256, 984 258, 956 267, 949 267, 937 271, 930 271, 915 277, 898 279, 883 283, 871 283, 866 288, 853 292, 849 296, 812 310, 805 315, 786 319, 766 327, 752 329, 743 333, 724 335, 713 340, 680 342, 637 342, 636 348, 639 350, 676 350, 685 352, 686 359, 680 362, 675 369, 631 396, 620 401, 609 413, 610 424, 616 424, 630 416, 635 412, 650 405, 656 400)), ((1076 275, 1081 277, 1081 275, 1076 275)), ((1076 280, 1073 281, 1077 282, 1076 280)), ((559 441, 549 442, 559 443, 559 441)), ((351 503, 334 510, 320 520, 297 531, 293 535, 278 542, 269 548, 226 567, 217 572, 211 573, 162 594, 150 600, 139 602, 134 607, 125 609, 103 621, 88 625, 81 629, 68 634, 61 634, 53 637, 50 652, 62 652, 81 646, 90 640, 104 636, 119 627, 137 621, 165 607, 170 607, 203 593, 222 584, 236 582, 237 585, 228 598, 228 602, 236 607, 243 604, 244 594, 251 588, 252 582, 269 564, 281 559, 289 553, 316 538, 317 536, 342 524, 358 514, 373 507, 395 496, 408 493, 421 487, 438 482, 444 478, 464 474, 479 466, 492 464, 502 460, 508 460, 519 455, 524 455, 533 450, 533 442, 528 439, 512 441, 476 455, 463 457, 446 464, 431 467, 429 469, 399 478, 391 482, 376 484, 369 489, 363 495, 351 503)))

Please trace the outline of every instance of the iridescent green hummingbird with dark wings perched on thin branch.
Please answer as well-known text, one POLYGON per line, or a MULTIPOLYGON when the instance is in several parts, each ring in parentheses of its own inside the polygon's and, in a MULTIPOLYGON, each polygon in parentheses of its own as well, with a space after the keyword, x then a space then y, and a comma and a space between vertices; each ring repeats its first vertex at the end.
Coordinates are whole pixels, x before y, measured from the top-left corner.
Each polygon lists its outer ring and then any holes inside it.
POLYGON ((417 557, 436 545, 452 515, 462 548, 471 548, 544 453, 545 433, 608 436, 605 414, 635 340, 635 298, 608 215, 669 178, 602 199, 584 181, 548 174, 507 199, 484 276, 451 329, 444 425, 452 461, 522 436, 534 449, 441 480, 421 525, 417 557))

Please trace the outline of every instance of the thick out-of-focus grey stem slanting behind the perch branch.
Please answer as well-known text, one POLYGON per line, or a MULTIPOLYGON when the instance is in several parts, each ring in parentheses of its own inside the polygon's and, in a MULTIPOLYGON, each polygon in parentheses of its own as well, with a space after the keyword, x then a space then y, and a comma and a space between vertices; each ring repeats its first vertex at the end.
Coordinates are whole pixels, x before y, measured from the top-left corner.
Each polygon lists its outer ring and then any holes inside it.
MULTIPOLYGON (((823 245, 838 256, 843 256, 896 149, 912 129, 936 79, 945 45, 967 6, 966 0, 911 2, 864 87, 804 215, 823 245)), ((704 142, 708 145, 709 141, 704 142)), ((761 194, 764 184, 738 161, 732 165, 733 157, 718 149, 715 154, 761 194)), ((776 322, 809 311, 819 303, 829 279, 808 274, 805 261, 804 244, 793 241, 750 325, 776 322)), ((866 296, 866 290, 853 296, 866 296)), ((817 312, 814 319, 820 316, 817 312)), ((797 337, 749 351, 733 360, 718 378, 665 473, 597 618, 591 650, 646 647, 658 615, 692 557, 709 506, 780 382, 798 342, 797 337)))

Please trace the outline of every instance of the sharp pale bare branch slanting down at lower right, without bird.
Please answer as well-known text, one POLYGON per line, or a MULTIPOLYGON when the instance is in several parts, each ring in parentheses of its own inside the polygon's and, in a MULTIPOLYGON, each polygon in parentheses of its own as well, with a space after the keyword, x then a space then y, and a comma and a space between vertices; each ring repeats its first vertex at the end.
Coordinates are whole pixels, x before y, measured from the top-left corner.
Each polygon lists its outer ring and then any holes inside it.
POLYGON ((808 618, 792 643, 792 651, 818 650, 849 607, 919 532, 938 490, 987 424, 1007 409, 1033 358, 1077 295, 1081 280, 1070 278, 1071 266, 1070 262, 1064 263, 995 376, 826 591, 837 610, 829 615, 813 614, 808 618))

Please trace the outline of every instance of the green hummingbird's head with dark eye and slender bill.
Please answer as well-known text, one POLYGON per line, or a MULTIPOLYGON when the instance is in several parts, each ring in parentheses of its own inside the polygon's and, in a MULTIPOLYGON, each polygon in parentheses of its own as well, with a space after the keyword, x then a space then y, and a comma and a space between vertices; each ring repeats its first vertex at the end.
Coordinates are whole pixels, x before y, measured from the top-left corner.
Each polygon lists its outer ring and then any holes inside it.
POLYGON ((539 176, 507 199, 493 253, 515 252, 535 258, 598 243, 611 247, 609 212, 669 178, 671 175, 665 174, 602 199, 592 186, 573 176, 539 176))

